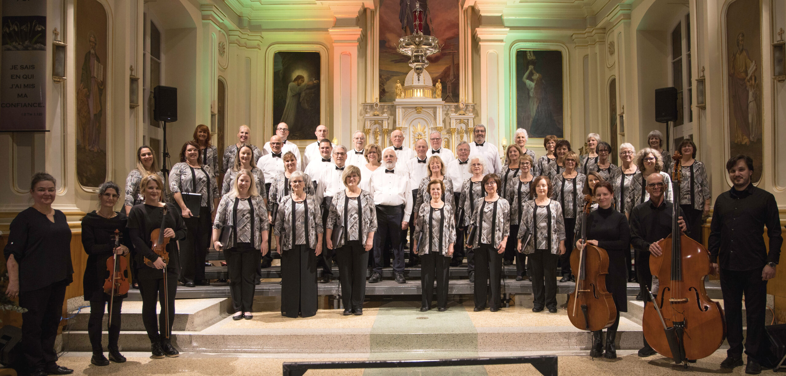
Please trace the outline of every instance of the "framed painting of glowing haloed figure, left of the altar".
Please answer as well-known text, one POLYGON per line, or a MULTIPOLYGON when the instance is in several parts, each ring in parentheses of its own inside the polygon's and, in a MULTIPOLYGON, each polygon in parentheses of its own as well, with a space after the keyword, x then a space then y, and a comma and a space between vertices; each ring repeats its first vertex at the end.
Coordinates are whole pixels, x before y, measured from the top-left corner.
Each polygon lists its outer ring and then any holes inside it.
POLYGON ((273 128, 289 126, 289 139, 313 140, 320 123, 320 60, 316 52, 285 51, 273 57, 273 128))

